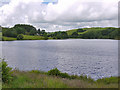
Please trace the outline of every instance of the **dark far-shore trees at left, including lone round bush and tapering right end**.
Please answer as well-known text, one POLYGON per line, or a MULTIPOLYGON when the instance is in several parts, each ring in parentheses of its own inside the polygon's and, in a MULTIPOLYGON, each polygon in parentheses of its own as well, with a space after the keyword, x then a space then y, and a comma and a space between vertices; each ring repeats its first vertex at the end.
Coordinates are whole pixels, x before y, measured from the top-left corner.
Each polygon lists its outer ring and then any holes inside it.
POLYGON ((17 24, 12 28, 2 28, 2 35, 6 37, 14 37, 17 39, 23 39, 23 35, 40 35, 47 39, 47 33, 45 30, 36 29, 32 25, 17 24))

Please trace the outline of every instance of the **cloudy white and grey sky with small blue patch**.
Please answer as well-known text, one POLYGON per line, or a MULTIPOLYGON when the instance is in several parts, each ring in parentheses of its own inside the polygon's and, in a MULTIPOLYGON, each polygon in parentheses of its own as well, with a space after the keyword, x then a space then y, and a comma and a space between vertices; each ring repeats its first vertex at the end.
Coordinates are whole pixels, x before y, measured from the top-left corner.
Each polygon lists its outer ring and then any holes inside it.
POLYGON ((119 0, 0 0, 0 25, 31 24, 47 31, 117 27, 119 0))

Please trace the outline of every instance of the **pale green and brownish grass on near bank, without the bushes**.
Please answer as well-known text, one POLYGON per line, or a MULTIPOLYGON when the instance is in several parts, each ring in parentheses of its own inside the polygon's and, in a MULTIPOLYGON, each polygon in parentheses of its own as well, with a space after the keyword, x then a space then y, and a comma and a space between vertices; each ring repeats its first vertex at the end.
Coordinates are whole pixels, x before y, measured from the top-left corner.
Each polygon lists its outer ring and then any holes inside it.
MULTIPOLYGON (((61 78, 40 71, 13 71, 14 79, 3 88, 118 88, 118 78, 89 81, 84 78, 61 78)), ((77 76, 79 77, 79 76, 77 76)))

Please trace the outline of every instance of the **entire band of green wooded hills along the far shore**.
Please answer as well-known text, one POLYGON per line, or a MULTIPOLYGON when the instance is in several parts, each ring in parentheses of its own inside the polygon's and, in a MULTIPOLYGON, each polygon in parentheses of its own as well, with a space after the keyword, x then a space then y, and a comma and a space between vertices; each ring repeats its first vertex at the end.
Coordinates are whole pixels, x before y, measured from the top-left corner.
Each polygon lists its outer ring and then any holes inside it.
POLYGON ((2 35, 3 35, 2 40, 4 40, 4 38, 6 37, 16 38, 17 40, 25 40, 25 38, 29 40, 28 37, 39 40, 68 39, 68 38, 119 39, 120 33, 118 28, 113 28, 113 27, 79 28, 68 31, 46 32, 45 30, 41 30, 41 29, 37 30, 32 25, 17 24, 12 28, 2 27, 2 35))

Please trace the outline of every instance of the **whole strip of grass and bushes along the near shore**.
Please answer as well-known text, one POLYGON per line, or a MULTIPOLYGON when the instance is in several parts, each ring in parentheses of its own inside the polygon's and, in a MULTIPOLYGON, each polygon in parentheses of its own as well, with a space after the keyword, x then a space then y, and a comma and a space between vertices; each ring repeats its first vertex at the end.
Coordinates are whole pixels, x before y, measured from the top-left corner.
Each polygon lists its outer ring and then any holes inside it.
POLYGON ((13 70, 2 61, 3 88, 118 88, 118 78, 94 81, 86 76, 68 75, 57 68, 48 72, 13 70))

